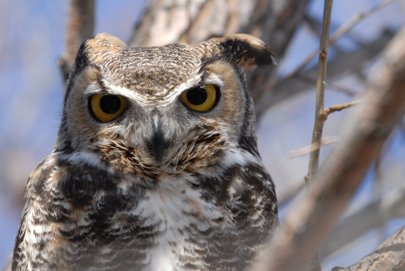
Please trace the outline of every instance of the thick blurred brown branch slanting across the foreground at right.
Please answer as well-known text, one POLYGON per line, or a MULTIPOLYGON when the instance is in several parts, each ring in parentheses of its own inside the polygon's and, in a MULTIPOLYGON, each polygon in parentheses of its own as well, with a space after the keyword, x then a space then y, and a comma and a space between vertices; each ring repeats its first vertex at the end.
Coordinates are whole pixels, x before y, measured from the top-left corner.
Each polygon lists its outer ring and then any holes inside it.
MULTIPOLYGON (((300 270, 338 220, 384 141, 405 113, 405 26, 374 66, 374 81, 347 133, 323 162, 304 199, 253 270, 300 270)), ((405 261, 403 248, 401 259, 405 261)), ((392 270, 392 269, 380 269, 392 270)))

